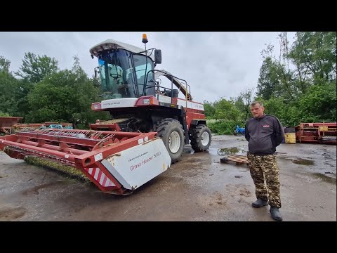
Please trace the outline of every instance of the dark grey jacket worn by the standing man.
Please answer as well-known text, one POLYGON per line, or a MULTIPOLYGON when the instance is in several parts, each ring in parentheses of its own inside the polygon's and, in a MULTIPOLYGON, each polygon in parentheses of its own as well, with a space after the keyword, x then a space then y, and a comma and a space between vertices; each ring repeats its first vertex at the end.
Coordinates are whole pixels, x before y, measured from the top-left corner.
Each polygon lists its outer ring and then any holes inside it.
POLYGON ((263 115, 247 120, 245 137, 250 153, 268 155, 275 153, 276 147, 284 140, 284 130, 277 117, 263 115))

